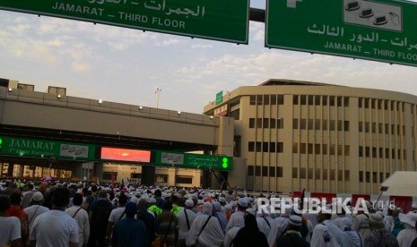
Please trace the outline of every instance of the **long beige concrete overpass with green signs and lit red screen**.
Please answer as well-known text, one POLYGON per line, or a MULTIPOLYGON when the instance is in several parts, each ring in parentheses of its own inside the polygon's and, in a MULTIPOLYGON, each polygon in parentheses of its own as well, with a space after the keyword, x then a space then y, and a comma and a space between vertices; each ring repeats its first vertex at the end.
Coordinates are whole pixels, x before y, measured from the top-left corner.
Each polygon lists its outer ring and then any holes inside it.
POLYGON ((102 179, 110 173, 105 164, 129 164, 141 167, 132 174, 143 183, 178 185, 175 178, 186 176, 194 181, 190 185, 213 186, 212 182, 232 179, 231 170, 239 166, 239 161, 233 163, 234 125, 228 117, 76 98, 62 92, 0 87, 0 162, 7 164, 2 175, 13 175, 19 164, 20 175, 24 166, 39 166, 44 169, 42 175, 52 167, 69 170, 80 179, 86 175, 102 179), (142 151, 145 158, 126 150, 142 151), (165 177, 162 182, 161 177, 165 177))

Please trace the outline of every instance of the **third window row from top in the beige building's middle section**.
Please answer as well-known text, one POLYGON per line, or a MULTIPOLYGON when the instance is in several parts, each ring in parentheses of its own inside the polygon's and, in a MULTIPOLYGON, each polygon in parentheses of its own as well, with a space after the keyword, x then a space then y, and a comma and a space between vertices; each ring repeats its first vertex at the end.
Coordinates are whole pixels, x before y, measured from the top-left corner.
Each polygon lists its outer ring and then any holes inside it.
POLYGON ((293 154, 323 154, 323 155, 344 155, 349 156, 351 146, 349 145, 335 145, 335 144, 313 144, 313 143, 292 143, 293 154))

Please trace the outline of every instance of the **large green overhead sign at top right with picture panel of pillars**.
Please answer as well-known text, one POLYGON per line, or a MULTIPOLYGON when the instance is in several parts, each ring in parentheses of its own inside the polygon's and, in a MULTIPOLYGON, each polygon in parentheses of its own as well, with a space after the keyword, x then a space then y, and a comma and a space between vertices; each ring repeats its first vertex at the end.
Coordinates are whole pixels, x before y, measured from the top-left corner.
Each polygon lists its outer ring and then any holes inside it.
POLYGON ((417 65, 417 4, 267 0, 265 47, 417 65))

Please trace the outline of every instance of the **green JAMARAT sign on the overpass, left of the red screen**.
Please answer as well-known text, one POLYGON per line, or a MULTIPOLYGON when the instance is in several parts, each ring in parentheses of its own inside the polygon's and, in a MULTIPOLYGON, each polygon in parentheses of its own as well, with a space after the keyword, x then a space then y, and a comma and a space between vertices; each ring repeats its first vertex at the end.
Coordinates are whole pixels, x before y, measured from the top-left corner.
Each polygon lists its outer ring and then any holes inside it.
POLYGON ((3 155, 75 160, 95 159, 96 148, 93 145, 14 137, 2 137, 1 140, 0 153, 3 155))

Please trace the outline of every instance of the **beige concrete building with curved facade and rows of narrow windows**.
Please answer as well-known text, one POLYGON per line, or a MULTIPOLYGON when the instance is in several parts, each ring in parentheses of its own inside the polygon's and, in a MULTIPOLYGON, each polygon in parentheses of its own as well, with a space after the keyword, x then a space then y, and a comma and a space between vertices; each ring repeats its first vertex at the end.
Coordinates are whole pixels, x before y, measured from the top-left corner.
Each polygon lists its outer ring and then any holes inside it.
POLYGON ((235 119, 234 156, 247 167, 230 178, 248 190, 376 194, 395 171, 416 170, 410 94, 269 80, 232 90, 204 114, 235 119))

